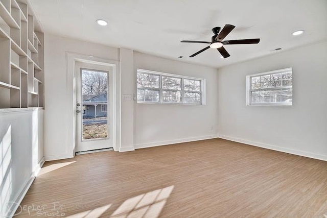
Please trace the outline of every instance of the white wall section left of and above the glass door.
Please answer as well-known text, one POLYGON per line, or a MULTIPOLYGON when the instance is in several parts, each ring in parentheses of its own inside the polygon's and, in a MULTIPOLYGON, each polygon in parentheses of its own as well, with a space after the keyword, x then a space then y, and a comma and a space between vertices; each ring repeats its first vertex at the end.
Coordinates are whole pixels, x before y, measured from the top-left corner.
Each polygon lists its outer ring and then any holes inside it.
MULTIPOLYGON (((44 156, 72 157, 72 93, 67 93, 66 52, 119 60, 119 49, 60 36, 44 35, 44 156)), ((73 74, 73 72, 72 72, 73 74)))

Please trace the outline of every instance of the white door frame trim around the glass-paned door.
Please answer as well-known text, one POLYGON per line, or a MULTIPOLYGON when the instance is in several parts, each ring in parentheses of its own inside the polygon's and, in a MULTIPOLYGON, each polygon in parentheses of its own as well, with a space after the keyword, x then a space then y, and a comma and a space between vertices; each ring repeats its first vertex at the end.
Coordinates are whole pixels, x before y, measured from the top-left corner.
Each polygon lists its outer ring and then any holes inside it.
POLYGON ((120 62, 71 52, 66 52, 66 60, 66 91, 68 105, 71 107, 67 114, 69 125, 67 125, 66 153, 74 157, 76 151, 76 62, 110 66, 113 69, 113 150, 119 151, 121 145, 120 62))

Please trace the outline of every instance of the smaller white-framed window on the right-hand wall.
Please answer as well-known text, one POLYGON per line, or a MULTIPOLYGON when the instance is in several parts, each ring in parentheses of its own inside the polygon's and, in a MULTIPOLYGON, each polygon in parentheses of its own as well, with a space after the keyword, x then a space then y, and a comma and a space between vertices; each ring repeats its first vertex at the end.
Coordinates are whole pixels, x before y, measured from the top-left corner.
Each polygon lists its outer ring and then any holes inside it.
POLYGON ((292 105, 292 68, 247 76, 247 105, 292 105))

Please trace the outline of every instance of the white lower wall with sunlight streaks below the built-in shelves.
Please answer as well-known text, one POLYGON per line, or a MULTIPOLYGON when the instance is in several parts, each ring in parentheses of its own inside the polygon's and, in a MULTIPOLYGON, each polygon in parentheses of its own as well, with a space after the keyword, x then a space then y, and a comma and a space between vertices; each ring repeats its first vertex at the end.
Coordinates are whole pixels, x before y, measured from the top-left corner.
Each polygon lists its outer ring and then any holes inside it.
MULTIPOLYGON (((0 110, 0 217, 10 217, 43 164, 43 110, 0 110)), ((16 208, 17 209, 17 208, 16 208)))

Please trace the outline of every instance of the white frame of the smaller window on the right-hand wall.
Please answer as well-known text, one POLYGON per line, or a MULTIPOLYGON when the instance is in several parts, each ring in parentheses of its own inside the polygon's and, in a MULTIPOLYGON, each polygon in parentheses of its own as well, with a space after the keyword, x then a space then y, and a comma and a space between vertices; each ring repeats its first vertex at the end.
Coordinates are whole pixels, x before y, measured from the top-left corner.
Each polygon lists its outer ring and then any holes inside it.
POLYGON ((293 105, 293 95, 292 95, 292 102, 251 103, 251 91, 253 91, 253 90, 258 90, 258 91, 260 91, 260 90, 281 90, 281 89, 289 89, 289 88, 291 88, 293 90, 293 77, 292 77, 292 86, 282 86, 283 80, 281 80, 281 87, 251 89, 251 78, 252 77, 278 74, 278 73, 282 73, 285 71, 292 71, 292 75, 293 75, 292 67, 285 68, 285 69, 272 70, 272 71, 268 71, 268 72, 260 72, 259 74, 246 75, 246 104, 247 104, 247 106, 292 106, 293 105))

